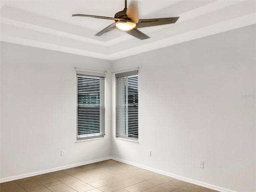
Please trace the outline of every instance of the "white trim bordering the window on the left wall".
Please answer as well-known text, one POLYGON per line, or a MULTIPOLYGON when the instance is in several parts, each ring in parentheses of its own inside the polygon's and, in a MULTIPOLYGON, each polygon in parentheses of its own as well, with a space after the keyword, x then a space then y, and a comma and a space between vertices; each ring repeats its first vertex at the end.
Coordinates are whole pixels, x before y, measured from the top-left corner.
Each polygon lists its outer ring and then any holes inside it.
MULTIPOLYGON (((106 74, 76 71, 76 142, 90 141, 106 138, 106 74), (78 138, 78 75, 88 77, 104 78, 104 134, 96 136, 85 136, 78 138)), ((101 120, 100 120, 101 121, 101 120)))

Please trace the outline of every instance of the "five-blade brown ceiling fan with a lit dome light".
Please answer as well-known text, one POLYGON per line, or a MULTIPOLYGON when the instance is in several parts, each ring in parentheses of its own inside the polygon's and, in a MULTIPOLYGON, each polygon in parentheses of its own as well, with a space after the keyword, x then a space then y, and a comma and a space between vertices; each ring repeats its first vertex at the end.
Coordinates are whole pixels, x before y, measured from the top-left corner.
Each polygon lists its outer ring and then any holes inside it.
POLYGON ((169 18, 153 18, 153 19, 139 19, 138 13, 138 3, 134 0, 131 0, 129 6, 127 7, 127 0, 125 0, 124 10, 119 11, 115 14, 114 18, 112 17, 104 17, 104 16, 96 16, 96 15, 85 15, 85 14, 73 14, 72 16, 81 16, 81 17, 92 17, 98 19, 109 19, 115 20, 113 24, 104 28, 95 36, 101 36, 106 32, 110 32, 116 28, 126 31, 126 33, 140 39, 148 39, 150 38, 146 34, 142 33, 138 30, 138 28, 149 27, 149 26, 157 26, 157 25, 165 25, 175 23, 179 17, 169 17, 169 18))

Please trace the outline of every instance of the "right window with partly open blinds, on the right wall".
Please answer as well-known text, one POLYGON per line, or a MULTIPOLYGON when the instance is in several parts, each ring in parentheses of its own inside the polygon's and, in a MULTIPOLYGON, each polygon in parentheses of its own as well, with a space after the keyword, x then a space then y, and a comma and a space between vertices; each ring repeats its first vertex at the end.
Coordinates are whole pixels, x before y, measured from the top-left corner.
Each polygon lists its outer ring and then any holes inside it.
POLYGON ((138 71, 116 74, 116 137, 138 140, 138 71))

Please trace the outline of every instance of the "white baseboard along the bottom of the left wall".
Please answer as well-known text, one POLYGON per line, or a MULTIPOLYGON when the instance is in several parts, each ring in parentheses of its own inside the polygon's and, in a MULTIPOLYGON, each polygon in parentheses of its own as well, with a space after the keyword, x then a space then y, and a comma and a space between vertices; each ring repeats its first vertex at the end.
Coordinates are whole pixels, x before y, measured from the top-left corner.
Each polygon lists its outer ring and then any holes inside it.
POLYGON ((111 159, 111 157, 105 157, 105 158, 85 161, 85 162, 81 162, 81 163, 56 167, 56 168, 52 168, 52 169, 46 169, 46 170, 42 170, 42 171, 36 171, 36 172, 32 172, 32 173, 26 173, 26 174, 1 178, 0 183, 13 181, 13 180, 17 180, 17 179, 22 179, 22 178, 26 178, 26 177, 32 177, 32 176, 36 176, 36 175, 40 175, 40 174, 50 173, 50 172, 54 172, 54 171, 64 170, 64 169, 68 169, 68 168, 78 167, 78 166, 82 166, 82 165, 87 165, 87 164, 91 164, 91 163, 96 163, 96 162, 100 162, 100 161, 109 160, 109 159, 111 159))

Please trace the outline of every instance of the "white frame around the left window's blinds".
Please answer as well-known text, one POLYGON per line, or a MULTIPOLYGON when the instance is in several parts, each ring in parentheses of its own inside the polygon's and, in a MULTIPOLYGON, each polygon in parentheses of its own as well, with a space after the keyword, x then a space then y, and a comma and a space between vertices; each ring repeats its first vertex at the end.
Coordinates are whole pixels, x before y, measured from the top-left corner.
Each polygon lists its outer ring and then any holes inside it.
MULTIPOLYGON (((101 99, 100 99, 101 100, 101 99)), ((91 139, 101 139, 104 138, 106 135, 106 75, 105 74, 98 74, 98 73, 89 73, 89 72, 82 72, 82 71, 76 71, 76 141, 86 141, 86 140, 91 140, 91 139), (100 80, 100 98, 103 99, 103 105, 101 105, 100 102, 100 131, 103 130, 103 134, 95 135, 92 134, 92 136, 81 136, 78 137, 78 76, 85 76, 88 78, 103 78, 104 83, 102 85, 102 82, 100 80), (101 87, 103 86, 103 88, 101 87), (103 90, 102 90, 103 89, 103 90), (103 91, 103 96, 101 95, 103 91), (102 112, 102 107, 103 107, 103 112, 102 112), (103 113, 103 114, 102 114, 103 113), (103 119, 102 119, 103 118, 103 119), (103 125, 102 125, 103 124, 103 125)))

